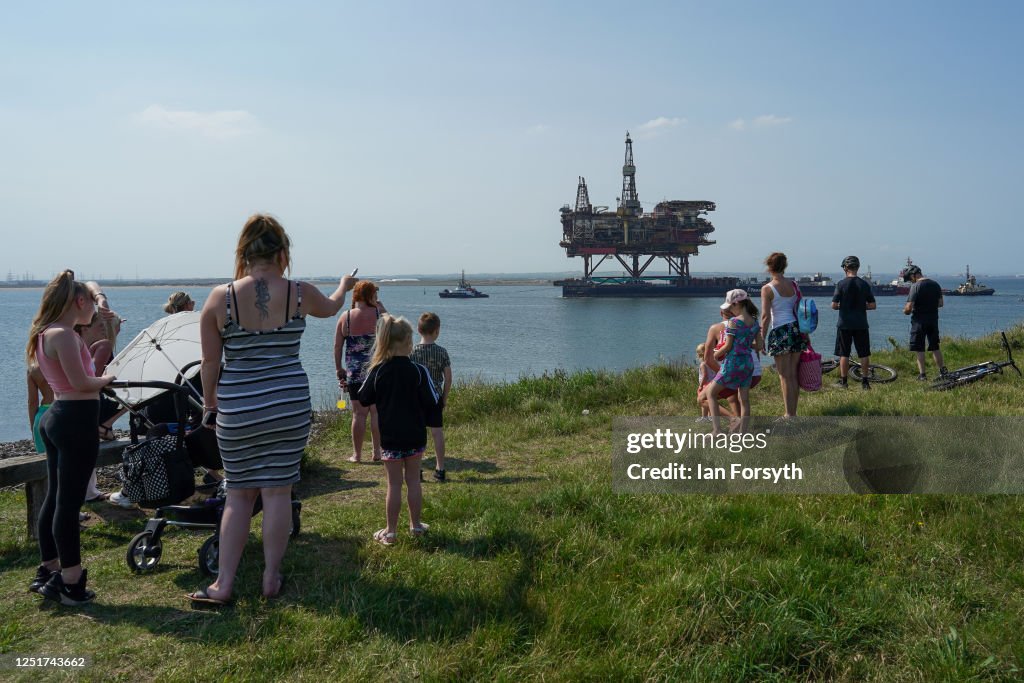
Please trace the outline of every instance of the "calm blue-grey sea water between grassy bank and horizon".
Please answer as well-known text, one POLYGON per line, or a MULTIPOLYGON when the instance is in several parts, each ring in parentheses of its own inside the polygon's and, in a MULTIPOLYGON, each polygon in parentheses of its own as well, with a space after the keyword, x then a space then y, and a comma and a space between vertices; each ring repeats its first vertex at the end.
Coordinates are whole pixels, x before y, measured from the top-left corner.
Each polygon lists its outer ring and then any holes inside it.
MULTIPOLYGON (((943 287, 955 280, 939 280, 943 287)), ((986 278, 995 288, 989 297, 946 297, 940 312, 943 335, 977 337, 1024 319, 1024 279, 986 278)), ((164 315, 162 306, 172 287, 112 287, 104 284, 111 306, 126 322, 123 346, 164 315)), ((209 288, 184 288, 202 305, 209 288)), ((333 287, 323 286, 329 293, 333 287)), ((562 299, 552 286, 492 286, 480 289, 487 299, 440 299, 438 287, 412 284, 381 286, 380 299, 415 328, 428 310, 441 318, 437 342, 449 350, 456 382, 514 381, 556 369, 624 370, 651 362, 693 362, 694 349, 708 326, 719 319, 719 299, 562 299)), ((0 289, 0 441, 28 438, 25 344, 41 289, 0 289)), ((812 343, 825 357, 835 345, 836 312, 829 297, 812 297, 820 321, 812 343)), ((871 347, 888 349, 889 337, 904 348, 909 319, 905 297, 879 297, 868 313, 871 347)), ((350 297, 348 298, 350 301, 350 297)), ((760 302, 757 302, 760 303, 760 302)), ((313 408, 337 410, 340 396, 333 349, 335 319, 307 318, 302 362, 309 375, 313 408)), ((687 387, 695 389, 695 387, 687 387)), ((687 393, 689 395, 689 392, 687 393)))

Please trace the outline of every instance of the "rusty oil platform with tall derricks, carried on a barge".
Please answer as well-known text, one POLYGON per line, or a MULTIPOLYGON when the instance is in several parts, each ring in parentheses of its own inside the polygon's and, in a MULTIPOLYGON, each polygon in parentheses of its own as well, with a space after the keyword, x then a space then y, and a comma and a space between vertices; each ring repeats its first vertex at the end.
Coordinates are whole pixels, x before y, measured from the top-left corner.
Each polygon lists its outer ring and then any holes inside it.
POLYGON ((715 210, 708 201, 660 202, 644 213, 637 195, 633 140, 626 133, 623 194, 614 212, 590 203, 587 180, 580 178, 575 207, 561 208, 562 241, 568 258, 583 257, 583 278, 555 281, 562 296, 574 297, 702 297, 722 296, 737 287, 736 278, 691 278, 690 256, 715 244, 708 236, 715 226, 705 218, 715 210), (625 274, 599 276, 598 266, 615 259, 625 274), (656 260, 668 274, 644 274, 656 260))

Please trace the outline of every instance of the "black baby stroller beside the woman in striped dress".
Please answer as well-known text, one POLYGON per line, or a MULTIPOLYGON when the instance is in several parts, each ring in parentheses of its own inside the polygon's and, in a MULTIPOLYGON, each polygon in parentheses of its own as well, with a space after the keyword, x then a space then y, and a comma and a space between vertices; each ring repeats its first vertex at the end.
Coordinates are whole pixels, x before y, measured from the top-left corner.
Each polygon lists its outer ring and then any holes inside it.
MULTIPOLYGON (((196 388, 182 379, 171 382, 113 382, 112 389, 150 389, 144 401, 129 404, 111 392, 115 400, 130 413, 131 444, 125 447, 122 480, 125 494, 135 503, 156 507, 145 528, 128 544, 125 561, 135 572, 152 571, 163 554, 162 537, 168 526, 213 529, 199 549, 200 569, 209 575, 218 571, 220 517, 224 511, 224 481, 214 476, 221 469, 217 437, 199 422, 202 407, 195 398, 196 388), (157 391, 152 391, 157 390, 157 391), (173 405, 174 422, 155 422, 173 405), (144 437, 140 438, 140 434, 144 437), (196 485, 195 470, 205 470, 203 482, 196 485), (181 505, 196 493, 207 494, 200 502, 181 505)), ((253 514, 262 509, 259 498, 253 514)), ((302 503, 292 498, 292 537, 301 525, 302 503)))

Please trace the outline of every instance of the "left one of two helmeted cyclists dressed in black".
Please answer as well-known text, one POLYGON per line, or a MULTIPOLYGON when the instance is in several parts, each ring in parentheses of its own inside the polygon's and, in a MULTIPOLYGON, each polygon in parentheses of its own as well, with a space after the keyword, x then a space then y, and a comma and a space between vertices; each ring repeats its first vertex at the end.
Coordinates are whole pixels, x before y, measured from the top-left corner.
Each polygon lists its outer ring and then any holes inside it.
POLYGON ((836 355, 839 356, 839 381, 836 386, 846 388, 850 373, 850 350, 856 346, 860 358, 860 386, 870 389, 867 377, 871 370, 871 339, 867 330, 867 311, 874 310, 874 295, 867 281, 857 276, 860 259, 847 256, 843 259, 846 278, 836 285, 833 310, 839 311, 836 324, 836 355))

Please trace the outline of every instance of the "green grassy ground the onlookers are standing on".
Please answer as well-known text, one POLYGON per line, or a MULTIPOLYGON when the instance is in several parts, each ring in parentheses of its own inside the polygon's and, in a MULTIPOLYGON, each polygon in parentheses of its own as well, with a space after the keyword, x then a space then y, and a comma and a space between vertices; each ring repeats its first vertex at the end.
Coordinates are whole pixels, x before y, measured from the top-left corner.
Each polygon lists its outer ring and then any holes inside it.
MULTIPOLYGON (((944 349, 950 368, 1001 355, 994 338, 944 349)), ((933 394, 906 351, 876 359, 900 379, 801 412, 1024 413, 1015 376, 933 394)), ((83 535, 96 603, 40 606, 24 493, 0 493, 0 659, 85 654, 86 680, 1020 680, 1016 497, 612 494, 611 417, 695 414, 694 386, 668 365, 458 387, 452 481, 425 484, 431 533, 393 548, 370 541, 383 473, 344 462, 339 421, 309 449, 285 596, 259 597, 254 526, 220 612, 182 597, 205 585, 203 533, 169 531, 158 570, 132 575, 142 517, 98 506, 83 535)), ((770 374, 752 393, 756 415, 778 411, 770 374)))

